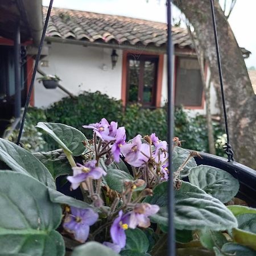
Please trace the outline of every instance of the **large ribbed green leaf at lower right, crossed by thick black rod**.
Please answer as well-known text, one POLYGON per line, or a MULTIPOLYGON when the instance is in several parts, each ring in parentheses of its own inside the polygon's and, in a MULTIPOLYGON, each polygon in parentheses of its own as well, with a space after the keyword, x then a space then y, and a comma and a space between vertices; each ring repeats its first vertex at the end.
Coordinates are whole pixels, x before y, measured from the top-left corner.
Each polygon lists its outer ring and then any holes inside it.
MULTIPOLYGON (((159 205, 159 212, 151 216, 151 220, 161 225, 168 225, 167 188, 167 182, 160 183, 155 187, 153 196, 144 200, 159 205)), ((224 204, 200 188, 182 181, 180 189, 175 191, 176 229, 209 228, 219 231, 236 227, 236 218, 224 204)))

